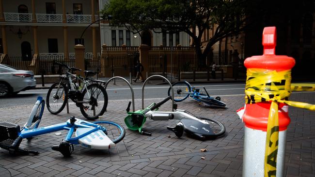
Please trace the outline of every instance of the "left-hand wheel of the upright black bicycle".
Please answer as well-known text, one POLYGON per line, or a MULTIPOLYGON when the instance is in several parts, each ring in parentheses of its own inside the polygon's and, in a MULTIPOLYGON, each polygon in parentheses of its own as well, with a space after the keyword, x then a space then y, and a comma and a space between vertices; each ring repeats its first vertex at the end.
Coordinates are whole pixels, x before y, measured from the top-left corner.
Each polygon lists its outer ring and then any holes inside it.
POLYGON ((68 92, 63 83, 56 82, 48 90, 46 105, 51 114, 60 113, 67 103, 68 92))

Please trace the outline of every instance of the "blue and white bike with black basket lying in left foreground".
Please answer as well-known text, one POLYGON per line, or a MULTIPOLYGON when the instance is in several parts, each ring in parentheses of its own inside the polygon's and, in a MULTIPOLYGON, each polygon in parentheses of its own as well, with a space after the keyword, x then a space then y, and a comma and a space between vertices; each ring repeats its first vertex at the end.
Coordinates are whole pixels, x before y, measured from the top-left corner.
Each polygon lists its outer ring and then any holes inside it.
POLYGON ((124 127, 115 122, 88 122, 75 117, 71 117, 64 123, 38 128, 44 107, 45 101, 42 97, 38 97, 28 121, 21 129, 17 124, 0 122, 0 148, 9 150, 10 154, 16 152, 39 154, 37 151, 19 148, 22 139, 31 140, 33 136, 67 130, 69 132, 60 145, 51 147, 67 157, 74 151, 73 145, 81 144, 82 147, 92 149, 110 149, 116 147, 116 144, 125 137, 124 127))

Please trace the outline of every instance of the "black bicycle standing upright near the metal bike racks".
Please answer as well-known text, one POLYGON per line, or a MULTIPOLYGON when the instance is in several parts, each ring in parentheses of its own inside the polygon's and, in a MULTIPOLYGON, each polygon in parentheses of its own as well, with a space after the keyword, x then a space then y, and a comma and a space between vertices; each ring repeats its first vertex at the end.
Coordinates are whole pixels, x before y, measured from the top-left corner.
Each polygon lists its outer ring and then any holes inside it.
POLYGON ((71 72, 82 70, 64 63, 55 63, 67 68, 68 71, 65 75, 60 75, 60 81, 49 88, 46 98, 48 111, 51 114, 60 113, 70 98, 80 108, 85 118, 95 120, 103 115, 107 108, 108 96, 101 84, 106 82, 87 78, 88 75, 96 74, 92 71, 84 71, 85 77, 81 77, 71 72), (82 83, 80 86, 76 84, 78 80, 82 83))

